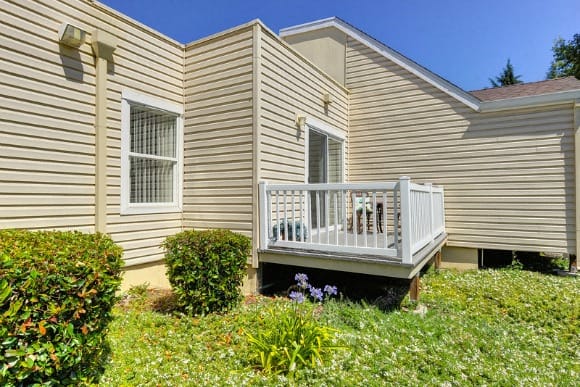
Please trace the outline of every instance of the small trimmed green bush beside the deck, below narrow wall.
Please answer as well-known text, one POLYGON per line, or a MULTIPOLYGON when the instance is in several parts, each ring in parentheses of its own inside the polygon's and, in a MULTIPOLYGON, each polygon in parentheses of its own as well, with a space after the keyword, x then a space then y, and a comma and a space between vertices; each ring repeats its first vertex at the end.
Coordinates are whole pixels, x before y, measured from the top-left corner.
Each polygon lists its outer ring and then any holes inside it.
POLYGON ((250 238, 228 230, 188 230, 168 237, 163 247, 167 276, 182 311, 206 314, 239 303, 250 238))

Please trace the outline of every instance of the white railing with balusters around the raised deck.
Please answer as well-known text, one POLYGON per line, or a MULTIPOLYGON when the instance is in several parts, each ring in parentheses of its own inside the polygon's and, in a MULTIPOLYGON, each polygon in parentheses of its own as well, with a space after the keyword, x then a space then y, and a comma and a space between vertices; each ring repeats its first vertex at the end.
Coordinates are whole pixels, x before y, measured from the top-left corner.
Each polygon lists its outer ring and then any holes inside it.
POLYGON ((372 254, 412 263, 445 231, 444 192, 390 183, 260 183, 260 248, 372 254))

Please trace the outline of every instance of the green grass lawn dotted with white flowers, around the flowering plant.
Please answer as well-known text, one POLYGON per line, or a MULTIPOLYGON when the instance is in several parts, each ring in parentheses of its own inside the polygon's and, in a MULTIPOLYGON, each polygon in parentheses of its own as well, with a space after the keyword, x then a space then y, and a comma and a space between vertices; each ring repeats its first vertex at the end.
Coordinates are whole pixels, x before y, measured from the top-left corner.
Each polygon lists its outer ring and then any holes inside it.
POLYGON ((258 329, 281 298, 250 298, 224 315, 178 317, 171 299, 143 289, 116 309, 113 358, 103 385, 575 385, 579 375, 578 280, 503 269, 430 272, 420 310, 405 301, 324 304, 320 322, 338 330, 324 365, 294 380, 248 362, 244 332, 258 329))

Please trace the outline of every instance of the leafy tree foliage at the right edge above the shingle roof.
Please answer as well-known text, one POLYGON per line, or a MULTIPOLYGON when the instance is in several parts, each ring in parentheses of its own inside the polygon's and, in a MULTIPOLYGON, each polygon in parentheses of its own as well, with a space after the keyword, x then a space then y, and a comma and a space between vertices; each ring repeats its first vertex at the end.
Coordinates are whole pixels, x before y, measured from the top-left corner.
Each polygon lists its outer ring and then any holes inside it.
POLYGON ((566 42, 558 38, 552 46, 554 58, 546 74, 548 79, 575 76, 580 79, 580 34, 566 42))

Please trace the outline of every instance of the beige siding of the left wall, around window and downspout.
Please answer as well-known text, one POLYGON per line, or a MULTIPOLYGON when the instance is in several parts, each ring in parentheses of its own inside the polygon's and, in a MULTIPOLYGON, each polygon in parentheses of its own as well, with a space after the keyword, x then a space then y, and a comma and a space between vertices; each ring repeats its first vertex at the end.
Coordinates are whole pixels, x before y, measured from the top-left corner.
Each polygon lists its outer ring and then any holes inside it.
POLYGON ((107 90, 107 232, 128 264, 161 259, 159 243, 181 230, 181 214, 119 214, 121 90, 183 103, 182 46, 87 1, 2 2, 0 23, 0 227, 94 231, 98 28, 118 39, 107 90), (58 44, 63 22, 87 31, 79 49, 58 44))

